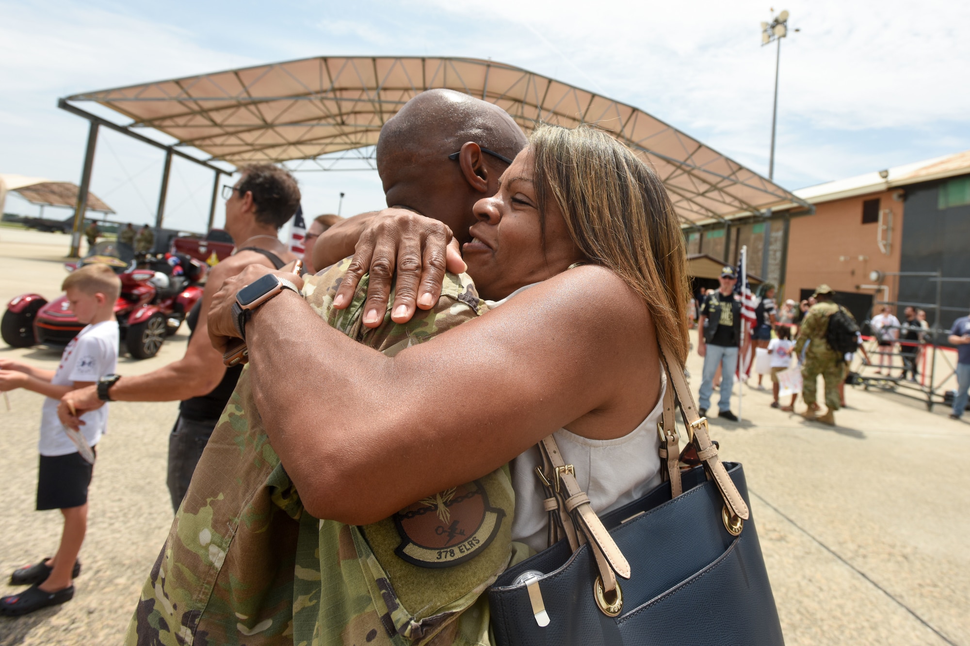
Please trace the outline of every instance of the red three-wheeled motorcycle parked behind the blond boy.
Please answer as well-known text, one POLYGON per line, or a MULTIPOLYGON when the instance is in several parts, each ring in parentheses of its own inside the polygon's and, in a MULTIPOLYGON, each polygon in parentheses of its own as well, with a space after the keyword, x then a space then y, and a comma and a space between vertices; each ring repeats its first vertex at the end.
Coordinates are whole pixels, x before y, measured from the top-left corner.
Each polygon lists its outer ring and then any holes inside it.
MULTIPOLYGON (((65 263, 69 272, 84 265, 103 263, 121 278, 121 295, 114 304, 122 348, 136 359, 158 353, 166 337, 178 331, 185 315, 202 298, 200 282, 208 266, 181 253, 136 254, 123 242, 103 241, 77 263, 65 263)), ((7 306, 0 333, 13 347, 63 347, 84 325, 68 308, 67 298, 48 302, 40 294, 24 294, 7 306)))

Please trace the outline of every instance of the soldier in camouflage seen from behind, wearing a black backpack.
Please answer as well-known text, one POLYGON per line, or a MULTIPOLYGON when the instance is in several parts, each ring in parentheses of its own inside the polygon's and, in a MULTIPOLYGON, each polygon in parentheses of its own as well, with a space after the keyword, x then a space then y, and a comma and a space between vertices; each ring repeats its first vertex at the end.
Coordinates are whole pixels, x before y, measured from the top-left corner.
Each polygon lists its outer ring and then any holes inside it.
MULTIPOLYGON (((817 303, 812 306, 795 341, 794 353, 801 361, 802 350, 806 343, 805 360, 801 368, 802 391, 801 396, 808 404, 808 409, 802 414, 807 420, 815 420, 835 426, 835 411, 839 409, 839 384, 845 378, 847 365, 843 357, 833 350, 825 339, 828 332, 828 318, 839 310, 839 306, 832 300, 834 292, 828 285, 819 285, 812 296, 817 303), (825 414, 818 414, 818 378, 822 375, 825 382, 825 414)), ((851 315, 851 314, 850 314, 851 315)))

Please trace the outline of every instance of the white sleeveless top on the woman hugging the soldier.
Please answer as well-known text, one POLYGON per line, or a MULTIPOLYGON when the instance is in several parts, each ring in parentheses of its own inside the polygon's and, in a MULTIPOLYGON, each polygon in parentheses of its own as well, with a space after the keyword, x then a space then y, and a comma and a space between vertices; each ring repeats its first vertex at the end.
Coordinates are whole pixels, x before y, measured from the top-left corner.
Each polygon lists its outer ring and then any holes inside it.
MULTIPOLYGON (((533 285, 521 287, 498 302, 486 301, 490 308, 533 285)), ((553 436, 567 465, 576 471, 576 480, 590 497, 593 510, 599 515, 635 501, 661 483, 660 436, 657 423, 663 414, 663 391, 666 375, 661 372, 660 397, 646 419, 629 434, 616 439, 587 439, 560 429, 553 436)), ((515 517, 512 519, 512 540, 529 545, 541 552, 548 545, 548 512, 542 506, 545 492, 535 475, 541 466, 539 450, 534 446, 511 462, 512 488, 515 490, 515 517)))

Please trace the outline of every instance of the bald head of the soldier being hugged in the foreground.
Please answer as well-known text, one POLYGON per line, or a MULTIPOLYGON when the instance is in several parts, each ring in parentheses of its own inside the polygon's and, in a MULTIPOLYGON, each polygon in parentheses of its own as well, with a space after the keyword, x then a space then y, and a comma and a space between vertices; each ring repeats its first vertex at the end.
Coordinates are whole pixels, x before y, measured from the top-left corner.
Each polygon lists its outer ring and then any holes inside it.
POLYGON ((444 222, 468 242, 471 208, 495 195, 508 159, 528 141, 498 106, 454 90, 422 92, 387 120, 377 141, 377 172, 388 207, 406 207, 444 222), (457 159, 449 155, 460 152, 457 159))

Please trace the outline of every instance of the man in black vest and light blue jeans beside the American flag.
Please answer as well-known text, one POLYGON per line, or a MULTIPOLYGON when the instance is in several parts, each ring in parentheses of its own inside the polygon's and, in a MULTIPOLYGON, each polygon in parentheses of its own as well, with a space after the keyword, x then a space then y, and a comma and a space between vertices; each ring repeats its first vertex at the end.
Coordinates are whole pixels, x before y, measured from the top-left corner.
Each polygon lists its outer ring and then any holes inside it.
POLYGON ((704 358, 697 408, 707 414, 714 392, 714 374, 721 366, 719 417, 737 421, 730 411, 730 393, 737 368, 737 347, 741 339, 741 302, 734 298, 737 273, 733 267, 721 270, 721 288, 704 299, 697 320, 697 354, 704 358))

